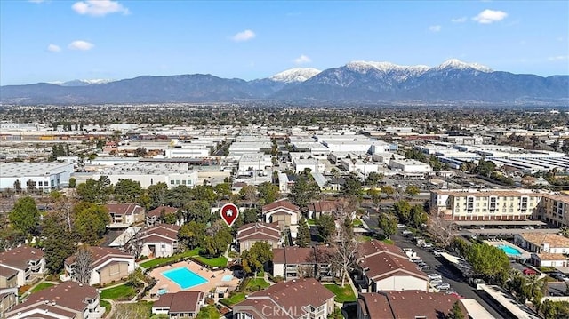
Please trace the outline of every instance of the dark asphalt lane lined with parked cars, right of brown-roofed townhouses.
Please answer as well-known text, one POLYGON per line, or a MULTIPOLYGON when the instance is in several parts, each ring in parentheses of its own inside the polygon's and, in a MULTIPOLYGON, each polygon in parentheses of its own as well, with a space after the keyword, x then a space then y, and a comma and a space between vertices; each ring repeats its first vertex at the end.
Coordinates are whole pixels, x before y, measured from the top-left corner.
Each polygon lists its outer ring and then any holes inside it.
POLYGON ((400 235, 401 231, 399 230, 396 235, 392 235, 391 239, 393 242, 399 246, 400 248, 413 248, 413 251, 417 252, 417 256, 430 266, 431 270, 427 271, 427 273, 437 272, 438 274, 443 276, 443 282, 450 283, 451 290, 456 291, 459 295, 463 296, 464 298, 469 299, 476 299, 477 302, 485 309, 493 315, 494 318, 503 318, 498 312, 496 312, 491 305, 489 305, 485 299, 482 299, 476 292, 474 288, 472 288, 468 283, 465 283, 461 277, 461 275, 455 274, 450 267, 442 264, 440 260, 438 260, 435 255, 428 251, 423 251, 421 248, 415 246, 415 244, 411 241, 411 239, 400 235))

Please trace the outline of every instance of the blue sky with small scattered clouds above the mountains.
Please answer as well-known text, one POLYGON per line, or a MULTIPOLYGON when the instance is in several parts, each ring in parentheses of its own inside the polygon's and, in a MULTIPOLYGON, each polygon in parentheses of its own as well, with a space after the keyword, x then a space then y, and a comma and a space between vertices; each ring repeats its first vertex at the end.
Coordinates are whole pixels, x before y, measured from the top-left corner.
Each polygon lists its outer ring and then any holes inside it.
POLYGON ((567 75, 568 38, 568 1, 2 0, 0 84, 451 58, 567 75))

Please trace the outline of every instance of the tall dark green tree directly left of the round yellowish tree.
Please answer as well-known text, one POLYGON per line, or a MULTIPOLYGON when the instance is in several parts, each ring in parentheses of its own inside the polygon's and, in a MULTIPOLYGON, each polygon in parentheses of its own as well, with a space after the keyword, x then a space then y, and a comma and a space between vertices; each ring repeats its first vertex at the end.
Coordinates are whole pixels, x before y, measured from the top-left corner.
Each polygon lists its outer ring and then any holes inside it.
POLYGON ((76 250, 76 235, 68 228, 64 212, 52 211, 42 220, 42 237, 45 252, 45 267, 52 274, 59 274, 63 261, 76 250))

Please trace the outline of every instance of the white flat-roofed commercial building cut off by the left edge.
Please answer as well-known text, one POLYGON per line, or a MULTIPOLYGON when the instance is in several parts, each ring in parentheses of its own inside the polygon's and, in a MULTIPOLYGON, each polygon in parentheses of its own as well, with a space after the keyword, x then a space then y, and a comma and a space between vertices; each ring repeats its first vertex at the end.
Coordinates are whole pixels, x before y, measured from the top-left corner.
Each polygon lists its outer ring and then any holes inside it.
POLYGON ((16 188, 41 189, 50 192, 69 185, 74 171, 72 163, 0 163, 0 190, 16 188))

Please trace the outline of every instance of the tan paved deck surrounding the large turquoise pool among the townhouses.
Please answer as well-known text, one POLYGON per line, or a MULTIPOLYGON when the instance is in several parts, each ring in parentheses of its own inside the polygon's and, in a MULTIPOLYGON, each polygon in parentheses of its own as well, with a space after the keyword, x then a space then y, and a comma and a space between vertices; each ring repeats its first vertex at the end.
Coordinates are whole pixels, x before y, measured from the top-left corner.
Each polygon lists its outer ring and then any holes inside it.
POLYGON ((149 274, 151 277, 156 279, 156 285, 152 287, 149 291, 149 295, 153 296, 156 295, 156 292, 160 289, 165 289, 168 292, 178 292, 178 291, 204 291, 205 293, 214 290, 216 287, 229 287, 229 291, 232 291, 232 288, 236 288, 239 284, 239 279, 233 277, 230 281, 223 281, 222 278, 224 275, 231 275, 233 276, 233 272, 228 269, 220 269, 220 270, 209 270, 206 267, 202 267, 196 264, 193 261, 181 261, 171 266, 164 266, 153 269, 150 271, 149 274), (172 282, 172 280, 166 278, 162 273, 164 271, 186 267, 192 272, 196 273, 197 275, 201 275, 207 280, 207 283, 198 284, 193 287, 189 287, 188 289, 181 289, 177 283, 172 282))

